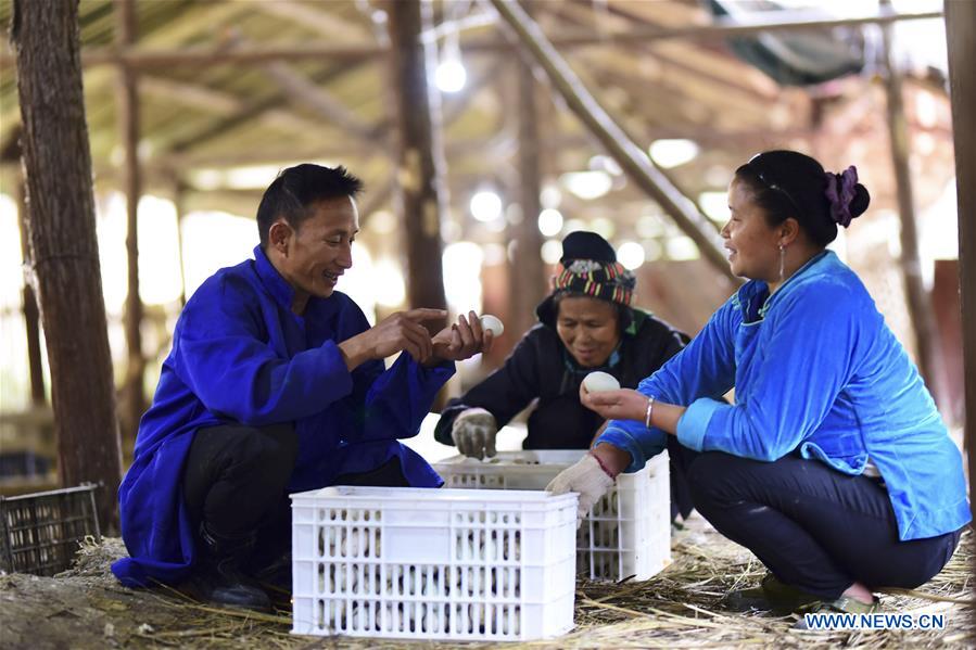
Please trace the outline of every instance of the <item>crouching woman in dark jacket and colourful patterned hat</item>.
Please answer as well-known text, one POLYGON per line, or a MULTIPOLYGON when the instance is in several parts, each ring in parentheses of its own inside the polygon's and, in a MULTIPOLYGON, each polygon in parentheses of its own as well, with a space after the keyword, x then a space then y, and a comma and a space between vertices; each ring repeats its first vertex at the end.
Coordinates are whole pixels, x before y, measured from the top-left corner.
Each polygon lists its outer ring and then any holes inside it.
MULTIPOLYGON (((537 399, 524 448, 586 449, 604 418, 580 404, 583 378, 601 370, 621 386, 636 387, 687 343, 683 333, 632 306, 634 275, 600 235, 569 233, 559 262, 553 293, 536 308, 538 323, 502 368, 448 403, 434 433, 441 443, 474 458, 494 456, 498 428, 537 399)), ((682 475, 672 459, 672 511, 687 515, 690 496, 681 488, 682 475)))

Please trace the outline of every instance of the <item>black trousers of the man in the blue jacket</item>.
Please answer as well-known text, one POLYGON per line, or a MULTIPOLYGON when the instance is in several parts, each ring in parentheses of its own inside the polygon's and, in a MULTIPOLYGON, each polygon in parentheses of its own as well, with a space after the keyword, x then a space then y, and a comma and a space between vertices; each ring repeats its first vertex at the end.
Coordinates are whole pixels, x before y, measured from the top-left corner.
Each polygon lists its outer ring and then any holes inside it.
MULTIPOLYGON (((182 477, 194 526, 206 522, 212 534, 226 538, 256 534, 256 564, 284 552, 291 545, 287 487, 297 448, 291 424, 199 430, 182 477)), ((333 484, 408 485, 396 457, 369 472, 338 476, 333 484)))

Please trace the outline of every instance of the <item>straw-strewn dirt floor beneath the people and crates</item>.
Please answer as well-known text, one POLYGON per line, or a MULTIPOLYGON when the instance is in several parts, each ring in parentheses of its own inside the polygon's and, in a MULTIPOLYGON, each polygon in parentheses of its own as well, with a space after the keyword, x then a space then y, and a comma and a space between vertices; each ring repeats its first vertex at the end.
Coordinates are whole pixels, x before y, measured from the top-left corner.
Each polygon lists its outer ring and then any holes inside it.
MULTIPOLYGON (((937 632, 801 632, 796 617, 736 614, 719 599, 758 583, 763 568, 745 549, 693 517, 676 531, 674 562, 645 583, 580 582, 576 628, 535 643, 470 643, 471 648, 973 648, 973 535, 950 565, 913 595, 885 595, 889 612, 942 613, 937 632)), ((75 569, 55 577, 0 575, 0 648, 449 648, 431 643, 289 633, 290 612, 276 615, 208 608, 176 592, 122 587, 109 566, 125 553, 117 538, 83 549, 75 569)))

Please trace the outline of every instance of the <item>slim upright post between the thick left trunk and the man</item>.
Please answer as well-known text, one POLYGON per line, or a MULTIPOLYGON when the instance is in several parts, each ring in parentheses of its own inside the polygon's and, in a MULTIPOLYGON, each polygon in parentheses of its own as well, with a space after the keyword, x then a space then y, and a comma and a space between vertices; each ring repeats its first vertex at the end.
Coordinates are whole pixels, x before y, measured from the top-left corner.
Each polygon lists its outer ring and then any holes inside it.
MULTIPOLYGON (((119 0, 115 3, 116 43, 124 48, 136 41, 136 3, 119 0)), ((142 375, 145 359, 142 355, 142 299, 139 297, 139 197, 142 194, 142 179, 139 169, 139 89, 136 71, 126 63, 118 66, 118 129, 119 140, 125 151, 123 179, 126 194, 127 232, 126 255, 128 262, 129 290, 125 307, 125 337, 128 356, 124 409, 122 413, 123 435, 132 439, 139 428, 139 419, 145 410, 145 395, 142 375)))

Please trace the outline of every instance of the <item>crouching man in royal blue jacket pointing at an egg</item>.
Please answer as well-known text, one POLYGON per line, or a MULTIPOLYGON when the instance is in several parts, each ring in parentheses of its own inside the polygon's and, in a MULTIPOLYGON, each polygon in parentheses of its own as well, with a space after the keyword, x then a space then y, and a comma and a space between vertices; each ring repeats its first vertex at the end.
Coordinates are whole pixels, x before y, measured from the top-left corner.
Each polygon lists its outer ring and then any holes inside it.
POLYGON ((431 337, 422 323, 441 309, 370 328, 334 290, 352 266, 360 190, 342 167, 284 169, 261 201, 254 259, 187 303, 119 487, 123 584, 192 577, 206 600, 266 609, 252 574, 288 545, 288 494, 441 485, 397 438, 416 435, 454 361, 491 334, 471 313, 431 337))

